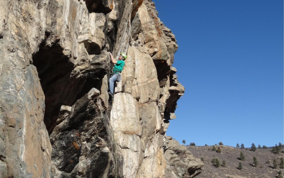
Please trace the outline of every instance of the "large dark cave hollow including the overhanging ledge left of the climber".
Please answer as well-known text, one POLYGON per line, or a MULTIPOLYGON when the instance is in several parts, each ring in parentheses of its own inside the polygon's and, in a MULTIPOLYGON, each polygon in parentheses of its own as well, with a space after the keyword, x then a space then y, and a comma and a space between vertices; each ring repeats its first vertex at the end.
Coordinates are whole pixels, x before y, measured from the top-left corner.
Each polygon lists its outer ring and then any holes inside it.
MULTIPOLYGON (((48 38, 49 32, 45 33, 48 38)), ((93 48, 92 48, 93 49, 93 48)), ((72 54, 64 55, 64 49, 56 40, 47 46, 45 40, 33 55, 41 87, 45 95, 44 123, 49 134, 58 124, 57 119, 62 105, 72 106, 92 88, 101 89, 102 78, 109 70, 108 52, 96 51, 89 67, 80 72, 75 69, 72 54)), ((75 124, 78 126, 78 124, 75 124)))

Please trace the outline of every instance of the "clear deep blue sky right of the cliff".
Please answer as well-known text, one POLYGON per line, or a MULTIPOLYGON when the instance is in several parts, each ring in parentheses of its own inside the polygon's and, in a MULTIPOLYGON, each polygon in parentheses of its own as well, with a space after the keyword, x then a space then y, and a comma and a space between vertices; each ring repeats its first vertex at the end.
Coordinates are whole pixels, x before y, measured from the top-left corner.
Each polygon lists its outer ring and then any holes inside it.
POLYGON ((283 144, 283 0, 153 0, 175 34, 180 143, 283 144))

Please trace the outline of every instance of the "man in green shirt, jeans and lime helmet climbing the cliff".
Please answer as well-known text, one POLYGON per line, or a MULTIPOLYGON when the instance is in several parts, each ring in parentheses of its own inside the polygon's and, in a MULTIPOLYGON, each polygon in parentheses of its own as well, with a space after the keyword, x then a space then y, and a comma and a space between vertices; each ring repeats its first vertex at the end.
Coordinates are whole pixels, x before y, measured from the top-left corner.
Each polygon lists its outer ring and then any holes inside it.
POLYGON ((114 64, 114 67, 112 69, 112 75, 110 76, 109 79, 109 85, 108 85, 108 94, 110 95, 110 97, 113 96, 113 91, 114 91, 114 82, 118 81, 118 79, 120 78, 120 73, 122 72, 123 66, 125 64, 125 60, 127 58, 125 53, 120 53, 118 60, 114 60, 113 56, 111 53, 110 54, 110 59, 112 64, 114 64))

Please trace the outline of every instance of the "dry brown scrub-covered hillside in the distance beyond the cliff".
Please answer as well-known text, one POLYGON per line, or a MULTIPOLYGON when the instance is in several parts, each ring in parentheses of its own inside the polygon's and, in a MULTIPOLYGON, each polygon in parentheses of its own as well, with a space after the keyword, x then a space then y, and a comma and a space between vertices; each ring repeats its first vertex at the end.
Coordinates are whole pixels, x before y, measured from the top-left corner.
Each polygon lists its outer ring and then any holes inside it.
POLYGON ((279 168, 281 157, 283 158, 283 148, 279 154, 271 152, 272 148, 259 149, 255 152, 250 151, 250 148, 240 149, 231 146, 216 146, 221 149, 221 153, 217 153, 212 150, 213 146, 187 146, 187 149, 193 154, 194 157, 204 160, 205 164, 202 167, 202 172, 197 178, 270 178, 278 175, 279 171, 283 169, 279 168), (240 152, 243 152, 245 161, 241 161, 240 152), (258 165, 253 167, 253 157, 256 157, 258 165), (212 159, 218 159, 220 162, 219 167, 215 167, 212 163, 212 159), (273 169, 273 159, 276 160, 277 168, 273 169), (222 167, 222 161, 225 161, 226 167, 222 167), (237 169, 239 162, 242 163, 243 168, 237 169))

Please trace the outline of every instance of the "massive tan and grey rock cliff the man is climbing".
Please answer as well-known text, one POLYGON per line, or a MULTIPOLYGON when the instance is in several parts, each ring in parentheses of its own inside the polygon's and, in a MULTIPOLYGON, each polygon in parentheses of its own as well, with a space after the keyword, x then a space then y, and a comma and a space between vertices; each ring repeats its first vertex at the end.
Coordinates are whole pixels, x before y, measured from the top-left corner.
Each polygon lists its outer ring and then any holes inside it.
POLYGON ((151 0, 0 4, 0 177, 199 173, 189 153, 170 156, 183 153, 166 130, 184 88, 151 0), (128 56, 112 105, 109 52, 128 56))

